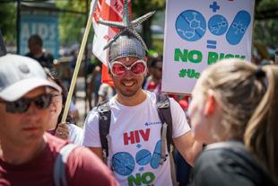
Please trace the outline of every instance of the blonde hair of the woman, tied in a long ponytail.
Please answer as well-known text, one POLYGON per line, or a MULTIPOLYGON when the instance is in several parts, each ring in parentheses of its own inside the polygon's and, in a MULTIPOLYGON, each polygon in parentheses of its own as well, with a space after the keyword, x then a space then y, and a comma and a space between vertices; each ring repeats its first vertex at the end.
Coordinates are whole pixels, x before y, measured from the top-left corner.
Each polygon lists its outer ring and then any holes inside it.
POLYGON ((217 136, 244 141, 277 182, 278 66, 224 59, 204 70, 197 86, 212 90, 222 108, 217 136))

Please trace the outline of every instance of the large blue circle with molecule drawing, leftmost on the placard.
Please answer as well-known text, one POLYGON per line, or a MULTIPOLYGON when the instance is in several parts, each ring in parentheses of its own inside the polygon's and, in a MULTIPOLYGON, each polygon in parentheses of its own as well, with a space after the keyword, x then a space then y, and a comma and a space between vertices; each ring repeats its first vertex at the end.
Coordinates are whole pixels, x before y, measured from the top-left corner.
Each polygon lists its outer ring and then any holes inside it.
POLYGON ((195 10, 187 10, 178 15, 176 31, 183 40, 200 40, 205 33, 206 22, 202 13, 195 10))

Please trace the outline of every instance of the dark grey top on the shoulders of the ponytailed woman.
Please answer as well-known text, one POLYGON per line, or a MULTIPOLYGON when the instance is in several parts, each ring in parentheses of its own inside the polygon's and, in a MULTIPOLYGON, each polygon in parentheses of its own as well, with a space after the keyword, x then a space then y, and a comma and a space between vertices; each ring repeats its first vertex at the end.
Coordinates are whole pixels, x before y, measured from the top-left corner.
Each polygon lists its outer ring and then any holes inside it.
POLYGON ((207 180, 202 182, 204 185, 264 185, 269 180, 267 173, 244 146, 204 150, 196 160, 194 172, 195 182, 207 180))

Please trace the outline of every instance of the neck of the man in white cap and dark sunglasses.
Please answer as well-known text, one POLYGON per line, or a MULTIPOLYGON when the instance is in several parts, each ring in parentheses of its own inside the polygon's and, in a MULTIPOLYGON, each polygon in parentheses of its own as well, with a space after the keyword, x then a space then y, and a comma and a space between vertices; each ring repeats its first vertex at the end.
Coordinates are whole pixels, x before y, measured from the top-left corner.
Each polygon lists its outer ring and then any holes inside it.
POLYGON ((41 137, 36 143, 28 146, 14 146, 1 141, 1 158, 8 164, 24 164, 38 156, 46 145, 46 139, 41 137))

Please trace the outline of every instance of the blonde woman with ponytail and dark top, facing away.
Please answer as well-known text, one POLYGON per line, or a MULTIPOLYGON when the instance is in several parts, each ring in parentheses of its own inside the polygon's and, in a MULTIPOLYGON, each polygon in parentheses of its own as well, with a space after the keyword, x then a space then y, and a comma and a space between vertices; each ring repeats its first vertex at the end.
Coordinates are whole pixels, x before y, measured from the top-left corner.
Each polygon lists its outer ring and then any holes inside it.
POLYGON ((278 66, 225 59, 204 70, 189 106, 193 185, 277 185, 278 66))

